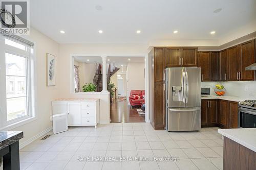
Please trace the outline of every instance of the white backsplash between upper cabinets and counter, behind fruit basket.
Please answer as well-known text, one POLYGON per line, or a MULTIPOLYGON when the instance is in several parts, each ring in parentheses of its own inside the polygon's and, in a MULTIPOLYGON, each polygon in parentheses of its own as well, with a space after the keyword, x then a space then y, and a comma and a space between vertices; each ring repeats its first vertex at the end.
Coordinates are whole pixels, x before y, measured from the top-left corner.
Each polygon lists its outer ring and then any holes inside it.
POLYGON ((248 100, 256 100, 256 81, 241 82, 202 82, 202 87, 210 87, 210 94, 216 95, 214 88, 216 84, 222 84, 228 96, 237 96, 248 100))

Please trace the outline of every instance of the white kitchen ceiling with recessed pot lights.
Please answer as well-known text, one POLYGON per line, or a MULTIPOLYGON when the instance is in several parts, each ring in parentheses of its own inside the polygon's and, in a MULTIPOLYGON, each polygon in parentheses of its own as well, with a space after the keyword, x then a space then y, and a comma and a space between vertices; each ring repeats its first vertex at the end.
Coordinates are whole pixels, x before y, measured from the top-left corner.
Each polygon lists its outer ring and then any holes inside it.
POLYGON ((59 43, 219 40, 256 23, 255 0, 33 0, 30 3, 31 26, 59 43), (219 8, 222 10, 214 13, 219 8), (60 30, 66 33, 61 34, 60 30), (99 30, 103 33, 99 34, 99 30), (141 33, 137 34, 137 30, 141 33), (174 34, 175 30, 178 33, 174 34), (216 33, 211 35, 211 31, 216 33))

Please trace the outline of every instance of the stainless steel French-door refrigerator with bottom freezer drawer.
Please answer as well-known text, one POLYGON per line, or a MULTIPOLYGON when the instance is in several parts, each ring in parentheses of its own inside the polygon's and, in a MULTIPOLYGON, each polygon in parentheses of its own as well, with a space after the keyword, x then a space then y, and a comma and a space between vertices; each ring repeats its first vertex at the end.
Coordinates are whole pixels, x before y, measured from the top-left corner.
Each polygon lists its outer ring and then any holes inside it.
POLYGON ((201 129, 201 68, 165 69, 166 130, 201 129))

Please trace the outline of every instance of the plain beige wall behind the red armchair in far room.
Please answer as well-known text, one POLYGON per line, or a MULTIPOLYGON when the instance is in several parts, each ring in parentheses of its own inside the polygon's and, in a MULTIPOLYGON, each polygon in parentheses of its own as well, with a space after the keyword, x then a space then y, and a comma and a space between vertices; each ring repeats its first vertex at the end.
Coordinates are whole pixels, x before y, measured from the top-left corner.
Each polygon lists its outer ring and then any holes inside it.
MULTIPOLYGON (((131 90, 145 90, 144 63, 127 63, 127 98, 131 90)), ((129 100, 127 100, 130 104, 129 100)))

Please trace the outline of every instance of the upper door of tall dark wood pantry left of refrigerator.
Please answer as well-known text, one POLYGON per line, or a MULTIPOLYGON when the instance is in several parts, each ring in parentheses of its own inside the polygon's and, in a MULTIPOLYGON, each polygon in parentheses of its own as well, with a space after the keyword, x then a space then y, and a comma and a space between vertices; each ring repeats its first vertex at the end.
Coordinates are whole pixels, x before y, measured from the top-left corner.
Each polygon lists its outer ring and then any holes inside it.
POLYGON ((155 82, 164 82, 164 47, 155 47, 154 50, 155 82))

